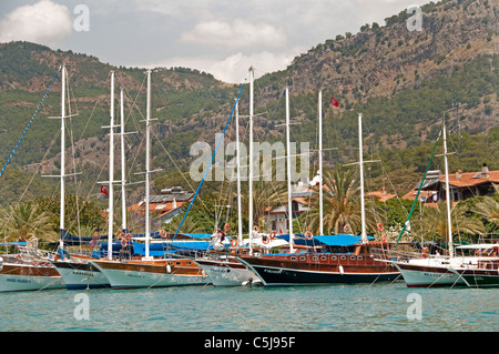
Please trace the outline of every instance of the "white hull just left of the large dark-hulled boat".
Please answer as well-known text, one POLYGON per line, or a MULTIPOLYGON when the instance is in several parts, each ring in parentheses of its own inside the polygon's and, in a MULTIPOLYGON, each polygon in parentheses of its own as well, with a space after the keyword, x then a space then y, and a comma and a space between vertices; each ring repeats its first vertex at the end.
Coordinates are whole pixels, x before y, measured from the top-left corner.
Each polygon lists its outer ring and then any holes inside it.
POLYGON ((261 283, 258 276, 244 264, 226 260, 195 260, 210 276, 214 286, 241 286, 261 283))

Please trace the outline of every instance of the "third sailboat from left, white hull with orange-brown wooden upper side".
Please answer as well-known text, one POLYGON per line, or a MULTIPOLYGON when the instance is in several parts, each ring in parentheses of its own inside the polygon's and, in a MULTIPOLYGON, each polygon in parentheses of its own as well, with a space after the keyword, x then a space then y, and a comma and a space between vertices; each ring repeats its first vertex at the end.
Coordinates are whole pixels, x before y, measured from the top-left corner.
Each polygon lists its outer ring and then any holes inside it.
MULTIPOLYGON (((208 282, 203 270, 191 259, 164 259, 150 255, 151 230, 150 204, 150 121, 151 121, 151 70, 147 70, 147 99, 145 119, 145 255, 140 260, 116 261, 112 259, 110 241, 108 260, 91 260, 113 289, 161 287, 172 285, 202 285, 208 282)), ((112 176, 110 176, 110 185, 112 176)), ((111 193, 110 193, 111 194, 111 193)), ((110 213, 111 218, 111 213, 110 213)), ((110 230, 112 223, 110 222, 110 230)), ((111 231, 110 231, 111 234, 111 231)), ((111 240, 112 236, 110 236, 111 240)))

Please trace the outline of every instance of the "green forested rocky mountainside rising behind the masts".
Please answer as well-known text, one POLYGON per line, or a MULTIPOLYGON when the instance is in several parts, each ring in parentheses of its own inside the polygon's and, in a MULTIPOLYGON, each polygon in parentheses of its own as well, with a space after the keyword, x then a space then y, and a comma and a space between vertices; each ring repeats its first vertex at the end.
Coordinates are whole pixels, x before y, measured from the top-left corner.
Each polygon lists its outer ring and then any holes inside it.
MULTIPOLYGON (((330 33, 330 40, 295 58, 286 70, 257 77, 255 139, 284 140, 284 130, 275 125, 284 121, 283 90, 288 85, 292 119, 301 123, 293 125, 292 139, 310 142, 312 149, 317 141, 317 92, 323 90, 324 144, 337 148, 325 154, 328 168, 356 159, 356 117, 363 112, 364 153, 383 161, 369 173, 373 178, 385 172, 404 175, 406 180, 396 185, 400 194, 420 178, 444 117, 458 152, 450 161, 451 170, 476 171, 483 162, 499 169, 498 0, 430 2, 422 7, 422 26, 415 31, 407 27, 410 17, 401 11, 385 19, 386 24, 366 23, 358 33, 330 33), (338 108, 330 104, 330 97, 338 108)), ((0 43, 0 163, 3 166, 62 63, 69 70, 71 113, 78 113, 68 121, 72 131, 68 139, 74 143, 68 148, 68 169, 74 163, 83 172, 79 180, 89 196, 100 196, 95 182, 108 173, 108 130, 102 127, 109 124, 111 70, 116 74, 116 99, 118 88, 125 91, 126 130, 139 131, 126 138, 131 179, 143 170, 143 68, 116 68, 94 57, 35 43, 0 43)), ((186 68, 157 68, 152 81, 152 114, 157 118, 152 166, 163 169, 155 178, 164 181, 177 169, 189 172, 195 141, 214 145, 241 85, 186 68)), ((39 174, 59 171, 59 121, 48 117, 59 114, 60 90, 57 80, 1 178, 0 204, 18 200, 29 183, 27 198, 57 193, 57 181, 39 174), (40 173, 33 176, 35 171, 40 173)), ((241 114, 247 114, 247 93, 248 85, 241 114)), ((247 124, 246 118, 242 121, 247 124)), ((247 140, 245 128, 243 140, 247 140)), ((227 140, 233 136, 231 128, 227 140)))

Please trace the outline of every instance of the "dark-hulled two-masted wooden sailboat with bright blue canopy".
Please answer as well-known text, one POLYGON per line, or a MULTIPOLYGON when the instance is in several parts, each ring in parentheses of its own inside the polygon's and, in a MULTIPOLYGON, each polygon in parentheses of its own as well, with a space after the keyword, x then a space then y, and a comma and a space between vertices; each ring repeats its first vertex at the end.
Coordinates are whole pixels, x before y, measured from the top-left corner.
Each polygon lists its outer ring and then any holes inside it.
MULTIPOLYGON (((320 101, 320 100, 319 100, 320 101)), ((286 88, 286 125, 289 125, 288 89, 286 88)), ((320 117, 320 115, 319 115, 320 117)), ((268 254, 262 256, 242 255, 238 260, 253 270, 266 286, 275 285, 314 285, 334 283, 374 283, 395 281, 399 272, 384 262, 385 252, 377 257, 375 252, 379 243, 369 242, 366 233, 364 213, 364 176, 363 176, 363 139, 361 113, 358 114, 359 125, 359 166, 360 166, 360 202, 361 202, 361 236, 355 235, 320 235, 308 236, 309 245, 320 249, 317 252, 301 252, 294 250, 293 221, 291 201, 289 209, 289 251, 288 253, 268 254)), ((287 128, 287 144, 289 131, 287 128)), ((288 150, 288 183, 289 176, 288 150)), ((319 186, 322 188, 322 176, 319 186)), ((289 199, 289 196, 288 196, 289 199)))

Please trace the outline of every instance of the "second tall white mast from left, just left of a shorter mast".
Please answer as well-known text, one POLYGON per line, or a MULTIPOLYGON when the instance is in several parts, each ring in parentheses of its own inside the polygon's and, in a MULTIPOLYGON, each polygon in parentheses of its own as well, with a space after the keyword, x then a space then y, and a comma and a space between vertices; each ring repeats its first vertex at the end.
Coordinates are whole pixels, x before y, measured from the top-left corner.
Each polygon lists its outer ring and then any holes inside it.
POLYGON ((109 131, 109 216, 108 216, 108 259, 113 256, 113 182, 114 182, 114 71, 111 71, 111 109, 109 131))

